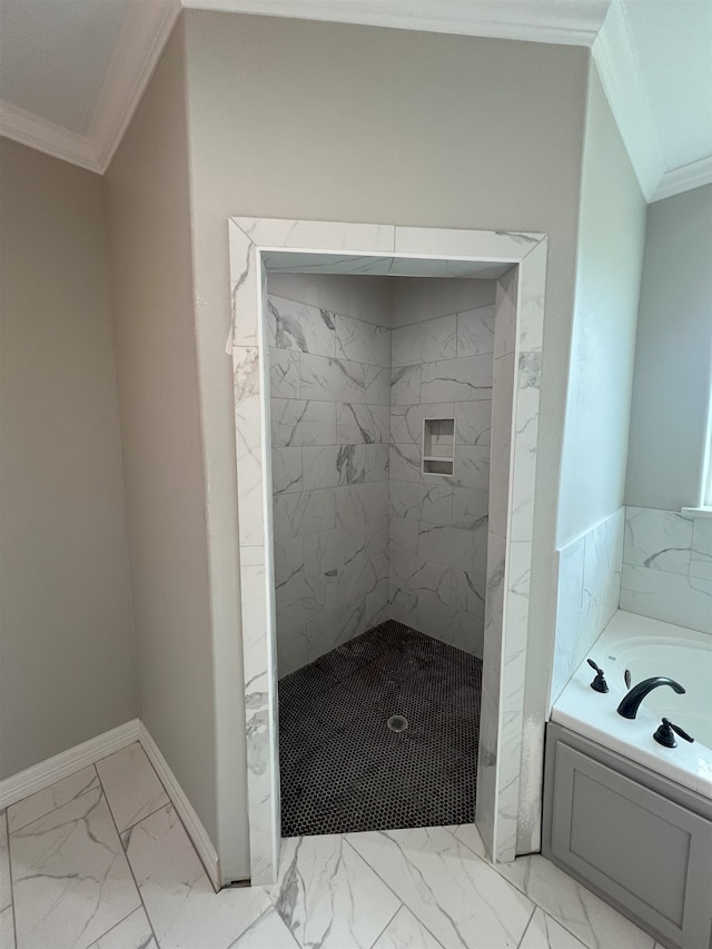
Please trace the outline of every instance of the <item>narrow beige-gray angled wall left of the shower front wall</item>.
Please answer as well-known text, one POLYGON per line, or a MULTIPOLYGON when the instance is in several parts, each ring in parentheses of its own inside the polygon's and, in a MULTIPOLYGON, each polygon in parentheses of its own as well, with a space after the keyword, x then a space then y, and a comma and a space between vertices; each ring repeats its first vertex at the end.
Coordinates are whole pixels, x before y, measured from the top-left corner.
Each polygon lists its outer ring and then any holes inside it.
POLYGON ((180 24, 106 187, 140 716, 216 840, 215 681, 180 24))

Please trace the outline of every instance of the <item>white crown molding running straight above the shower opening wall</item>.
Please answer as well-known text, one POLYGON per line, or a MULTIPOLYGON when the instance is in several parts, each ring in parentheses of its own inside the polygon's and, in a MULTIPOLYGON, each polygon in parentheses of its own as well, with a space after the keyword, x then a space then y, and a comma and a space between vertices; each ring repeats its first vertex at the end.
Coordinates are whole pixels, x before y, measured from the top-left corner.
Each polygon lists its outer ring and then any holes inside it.
POLYGON ((214 12, 592 46, 611 0, 182 0, 214 12))

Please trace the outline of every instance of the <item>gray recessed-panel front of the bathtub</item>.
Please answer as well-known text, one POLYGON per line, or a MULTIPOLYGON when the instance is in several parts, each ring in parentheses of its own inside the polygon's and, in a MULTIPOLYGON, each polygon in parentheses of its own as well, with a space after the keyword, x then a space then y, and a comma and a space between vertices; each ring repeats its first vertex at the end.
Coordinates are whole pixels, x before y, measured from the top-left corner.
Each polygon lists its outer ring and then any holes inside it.
POLYGON ((550 723, 542 849, 663 945, 709 949, 709 799, 550 723))

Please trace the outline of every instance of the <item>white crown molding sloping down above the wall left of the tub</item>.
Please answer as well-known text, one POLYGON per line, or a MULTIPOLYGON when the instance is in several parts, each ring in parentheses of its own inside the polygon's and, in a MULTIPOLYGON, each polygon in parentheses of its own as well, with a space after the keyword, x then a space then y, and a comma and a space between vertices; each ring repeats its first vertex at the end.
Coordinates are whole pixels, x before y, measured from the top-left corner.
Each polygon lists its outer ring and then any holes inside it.
POLYGON ((611 4, 593 45, 593 59, 641 190, 650 201, 663 172, 663 152, 653 111, 622 4, 611 4))

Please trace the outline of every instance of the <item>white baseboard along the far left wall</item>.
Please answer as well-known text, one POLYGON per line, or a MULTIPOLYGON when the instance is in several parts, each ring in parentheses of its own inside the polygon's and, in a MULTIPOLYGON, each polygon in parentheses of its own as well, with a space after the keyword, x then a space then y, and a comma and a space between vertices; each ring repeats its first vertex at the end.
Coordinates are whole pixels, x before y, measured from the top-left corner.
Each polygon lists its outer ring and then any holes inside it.
POLYGON ((70 774, 81 771, 82 768, 87 768, 89 764, 100 761, 108 754, 113 754, 115 751, 127 748, 138 740, 139 721, 132 719, 126 724, 111 729, 111 731, 103 732, 103 734, 83 741, 81 744, 76 744, 53 758, 40 761, 32 768, 11 774, 0 781, 0 808, 8 808, 10 804, 37 793, 37 791, 43 791, 44 788, 49 788, 56 781, 61 781, 62 778, 68 778, 70 774))

